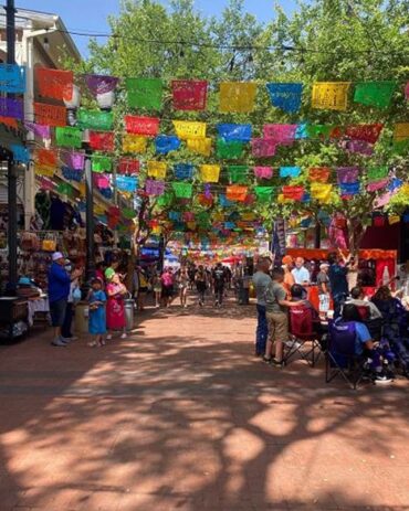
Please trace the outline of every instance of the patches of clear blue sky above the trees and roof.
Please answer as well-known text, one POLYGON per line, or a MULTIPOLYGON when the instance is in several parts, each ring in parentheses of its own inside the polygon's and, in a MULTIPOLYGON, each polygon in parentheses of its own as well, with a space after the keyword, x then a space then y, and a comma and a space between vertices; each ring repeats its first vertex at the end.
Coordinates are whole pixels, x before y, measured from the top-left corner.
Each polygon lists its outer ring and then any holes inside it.
MULTIPOLYGON (((15 0, 15 7, 33 11, 59 14, 69 30, 86 32, 108 32, 107 17, 119 12, 120 0, 15 0)), ((161 0, 167 4, 167 0, 161 0)), ((217 14, 228 4, 228 0, 196 0, 196 7, 204 14, 217 14)), ((245 0, 247 11, 259 20, 268 21, 273 17, 274 0, 245 0)), ((279 3, 291 11, 295 0, 279 0, 279 3)), ((87 38, 74 36, 81 53, 87 55, 87 38)), ((103 40, 101 40, 103 41, 103 40)))

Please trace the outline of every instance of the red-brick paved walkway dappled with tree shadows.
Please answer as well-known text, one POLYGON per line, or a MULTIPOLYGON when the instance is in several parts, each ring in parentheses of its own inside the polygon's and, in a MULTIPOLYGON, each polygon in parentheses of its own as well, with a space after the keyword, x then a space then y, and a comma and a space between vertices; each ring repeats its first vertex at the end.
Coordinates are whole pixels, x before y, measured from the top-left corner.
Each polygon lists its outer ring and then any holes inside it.
POLYGON ((0 348, 1 511, 409 510, 408 383, 252 356, 252 307, 0 348))

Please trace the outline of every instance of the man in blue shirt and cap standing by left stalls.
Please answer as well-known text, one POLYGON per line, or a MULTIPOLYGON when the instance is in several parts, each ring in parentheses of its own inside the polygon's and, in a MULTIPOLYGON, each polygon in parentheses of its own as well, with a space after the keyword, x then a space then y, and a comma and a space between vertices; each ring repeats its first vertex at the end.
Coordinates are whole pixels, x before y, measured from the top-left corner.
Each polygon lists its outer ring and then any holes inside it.
POLYGON ((65 269, 65 257, 61 252, 54 252, 49 270, 49 302, 51 323, 54 328, 52 345, 65 347, 69 342, 61 336, 61 327, 65 319, 71 279, 75 279, 80 275, 81 270, 80 273, 78 270, 74 270, 70 277, 65 269))

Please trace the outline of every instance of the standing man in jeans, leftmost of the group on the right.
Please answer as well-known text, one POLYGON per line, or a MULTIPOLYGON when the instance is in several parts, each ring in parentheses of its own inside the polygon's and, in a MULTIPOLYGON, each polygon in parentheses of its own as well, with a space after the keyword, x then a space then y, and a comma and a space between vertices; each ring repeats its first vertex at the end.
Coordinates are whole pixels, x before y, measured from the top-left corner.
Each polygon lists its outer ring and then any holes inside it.
POLYGON ((258 268, 253 275, 253 285, 256 296, 258 327, 255 330, 255 356, 261 356, 265 353, 265 344, 269 337, 269 326, 265 309, 265 291, 271 284, 269 269, 271 266, 270 257, 260 257, 258 268))

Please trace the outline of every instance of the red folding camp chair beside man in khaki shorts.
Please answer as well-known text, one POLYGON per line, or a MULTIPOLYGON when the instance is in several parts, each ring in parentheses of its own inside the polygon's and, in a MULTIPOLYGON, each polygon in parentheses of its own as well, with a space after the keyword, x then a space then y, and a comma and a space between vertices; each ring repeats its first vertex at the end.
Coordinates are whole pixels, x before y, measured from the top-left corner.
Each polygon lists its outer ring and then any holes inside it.
POLYGON ((284 354, 285 364, 298 354, 314 368, 321 354, 321 344, 314 330, 313 311, 310 307, 300 306, 290 309, 290 334, 291 339, 286 343, 289 350, 284 354))

